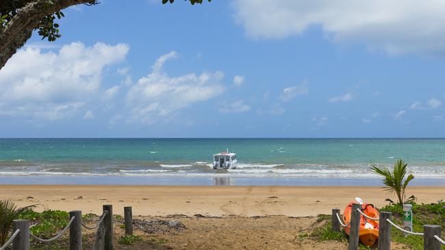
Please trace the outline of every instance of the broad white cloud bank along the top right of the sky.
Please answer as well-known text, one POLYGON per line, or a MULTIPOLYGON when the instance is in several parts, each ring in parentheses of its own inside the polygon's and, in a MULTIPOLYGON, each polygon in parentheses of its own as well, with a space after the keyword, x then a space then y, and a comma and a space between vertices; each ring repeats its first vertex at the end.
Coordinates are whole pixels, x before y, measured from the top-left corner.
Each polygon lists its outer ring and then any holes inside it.
POLYGON ((253 38, 299 36, 320 27, 335 42, 390 54, 445 52, 445 1, 235 0, 233 8, 253 38))

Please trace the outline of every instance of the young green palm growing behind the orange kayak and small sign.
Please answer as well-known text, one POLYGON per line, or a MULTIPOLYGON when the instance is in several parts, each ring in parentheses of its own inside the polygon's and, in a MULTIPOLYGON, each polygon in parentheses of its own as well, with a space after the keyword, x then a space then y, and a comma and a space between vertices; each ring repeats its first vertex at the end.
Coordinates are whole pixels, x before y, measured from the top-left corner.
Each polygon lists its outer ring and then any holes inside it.
MULTIPOLYGON (((383 179, 383 184, 386 185, 384 189, 389 193, 395 193, 398 198, 398 204, 401 206, 403 206, 403 204, 406 202, 413 202, 416 200, 414 195, 405 200, 405 189, 407 188, 408 183, 414 179, 414 176, 410 174, 405 180, 407 166, 407 163, 401 159, 398 159, 396 163, 394 163, 394 169, 392 171, 385 166, 372 165, 371 167, 374 173, 378 173, 385 178, 383 179)), ((395 202, 392 202, 391 199, 386 200, 395 204, 395 202)))

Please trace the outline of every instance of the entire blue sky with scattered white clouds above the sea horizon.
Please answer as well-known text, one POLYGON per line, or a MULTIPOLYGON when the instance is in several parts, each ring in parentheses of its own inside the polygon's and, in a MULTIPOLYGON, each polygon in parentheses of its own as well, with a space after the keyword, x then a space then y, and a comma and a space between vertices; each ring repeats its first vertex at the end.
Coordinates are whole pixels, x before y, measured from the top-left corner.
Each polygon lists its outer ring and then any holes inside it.
POLYGON ((103 0, 0 70, 0 137, 445 137, 445 2, 103 0))

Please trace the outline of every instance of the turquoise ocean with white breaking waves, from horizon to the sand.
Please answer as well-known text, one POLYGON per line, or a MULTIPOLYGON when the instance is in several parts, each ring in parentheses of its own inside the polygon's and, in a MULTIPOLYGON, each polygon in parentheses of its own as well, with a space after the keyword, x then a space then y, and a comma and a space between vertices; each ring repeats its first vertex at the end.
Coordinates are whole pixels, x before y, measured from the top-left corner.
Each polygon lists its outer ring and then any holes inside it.
POLYGON ((402 158, 445 184, 445 139, 0 139, 0 184, 380 184, 402 158), (212 154, 236 152, 236 169, 212 154))

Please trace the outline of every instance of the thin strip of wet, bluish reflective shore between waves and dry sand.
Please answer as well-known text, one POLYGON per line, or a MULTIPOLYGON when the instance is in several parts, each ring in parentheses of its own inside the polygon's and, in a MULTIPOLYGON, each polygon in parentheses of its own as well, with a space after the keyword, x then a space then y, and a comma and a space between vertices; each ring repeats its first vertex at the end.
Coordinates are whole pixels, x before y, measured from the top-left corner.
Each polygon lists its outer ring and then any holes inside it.
MULTIPOLYGON (((0 176, 0 185, 112 186, 383 186, 382 178, 246 178, 148 176, 0 176)), ((414 178, 410 186, 445 186, 445 178, 414 178)))

